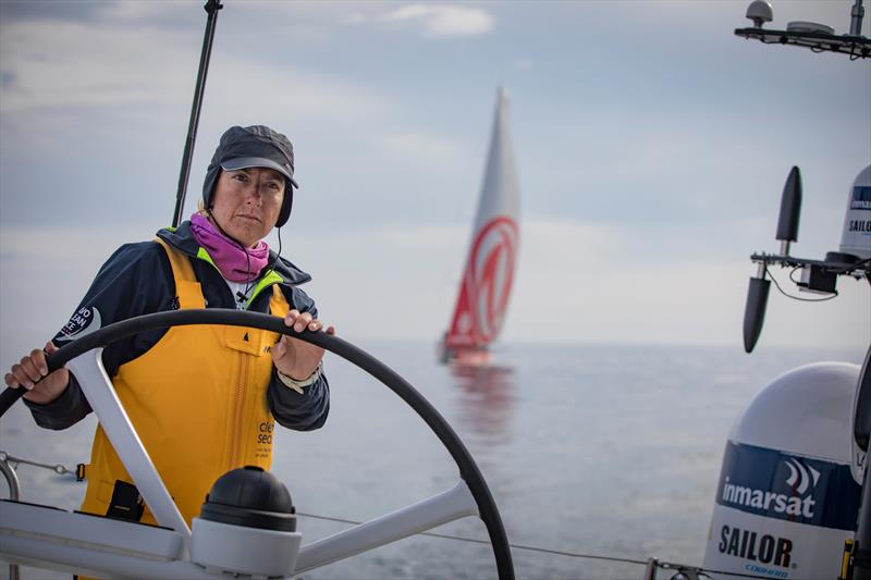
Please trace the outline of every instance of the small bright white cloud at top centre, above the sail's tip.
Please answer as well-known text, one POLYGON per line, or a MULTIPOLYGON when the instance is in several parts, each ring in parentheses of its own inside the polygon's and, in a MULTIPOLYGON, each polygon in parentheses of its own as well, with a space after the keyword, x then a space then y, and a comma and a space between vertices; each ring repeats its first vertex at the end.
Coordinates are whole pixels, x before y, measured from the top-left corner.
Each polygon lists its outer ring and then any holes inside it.
POLYGON ((445 5, 409 4, 382 16, 387 22, 418 22, 427 36, 476 36, 493 28, 493 18, 483 10, 445 5))

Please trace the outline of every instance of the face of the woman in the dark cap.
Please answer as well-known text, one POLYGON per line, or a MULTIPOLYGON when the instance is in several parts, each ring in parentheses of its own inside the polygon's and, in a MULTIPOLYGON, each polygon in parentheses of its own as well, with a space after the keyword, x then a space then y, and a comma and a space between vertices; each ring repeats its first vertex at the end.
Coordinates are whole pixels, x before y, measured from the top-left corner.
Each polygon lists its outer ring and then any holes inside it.
POLYGON ((212 219, 230 237, 250 248, 279 219, 284 175, 267 168, 221 171, 212 199, 212 219))

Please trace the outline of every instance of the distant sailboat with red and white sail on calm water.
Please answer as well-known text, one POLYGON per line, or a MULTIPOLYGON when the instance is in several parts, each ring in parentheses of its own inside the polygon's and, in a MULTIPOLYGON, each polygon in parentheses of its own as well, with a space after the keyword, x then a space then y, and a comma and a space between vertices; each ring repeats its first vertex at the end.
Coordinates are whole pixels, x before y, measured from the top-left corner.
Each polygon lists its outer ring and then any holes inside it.
POLYGON ((481 365, 490 359, 508 307, 519 249, 519 192, 508 132, 508 97, 499 89, 493 133, 478 213, 451 325, 441 344, 443 362, 481 365))

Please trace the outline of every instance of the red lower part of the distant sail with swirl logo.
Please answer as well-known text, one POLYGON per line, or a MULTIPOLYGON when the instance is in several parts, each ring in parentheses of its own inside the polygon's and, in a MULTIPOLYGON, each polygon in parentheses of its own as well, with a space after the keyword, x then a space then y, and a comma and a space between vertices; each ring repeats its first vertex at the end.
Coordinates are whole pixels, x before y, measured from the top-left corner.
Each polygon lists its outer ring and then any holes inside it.
POLYGON ((502 215, 475 238, 449 343, 482 346, 502 328, 514 281, 519 234, 517 223, 502 215))

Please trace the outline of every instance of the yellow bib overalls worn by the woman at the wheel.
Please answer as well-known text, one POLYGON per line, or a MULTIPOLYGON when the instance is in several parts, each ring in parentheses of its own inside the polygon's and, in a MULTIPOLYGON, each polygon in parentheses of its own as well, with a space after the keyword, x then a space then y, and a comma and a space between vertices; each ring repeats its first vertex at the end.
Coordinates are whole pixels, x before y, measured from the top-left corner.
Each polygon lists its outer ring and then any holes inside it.
MULTIPOLYGON (((205 308, 191 259, 157 242, 169 256, 179 307, 205 308)), ((269 308, 279 317, 290 310, 278 285, 272 286, 269 308)), ((272 464, 274 419, 266 392, 271 350, 279 337, 238 326, 173 326, 146 354, 122 365, 112 379, 188 526, 220 476, 245 465, 269 469, 272 464)), ((131 489, 125 482, 133 482, 100 425, 85 473, 82 511, 91 514, 107 515, 116 488, 131 489)), ((147 506, 140 521, 155 523, 147 506)))

